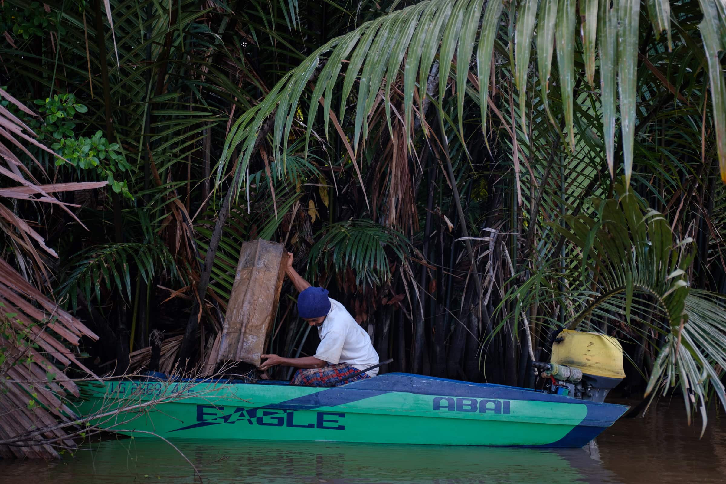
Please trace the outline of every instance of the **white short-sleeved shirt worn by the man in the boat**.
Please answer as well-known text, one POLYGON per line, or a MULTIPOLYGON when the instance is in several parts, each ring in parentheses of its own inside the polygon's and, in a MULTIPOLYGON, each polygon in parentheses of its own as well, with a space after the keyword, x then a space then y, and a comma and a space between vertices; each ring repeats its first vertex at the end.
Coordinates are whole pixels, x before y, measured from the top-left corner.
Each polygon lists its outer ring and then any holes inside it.
MULTIPOLYGON (((315 358, 330 364, 346 363, 359 370, 378 364, 378 353, 370 342, 370 336, 360 327, 346 308, 330 299, 330 312, 322 326, 318 327, 320 344, 315 358)), ((366 372, 375 377, 378 368, 366 372)))

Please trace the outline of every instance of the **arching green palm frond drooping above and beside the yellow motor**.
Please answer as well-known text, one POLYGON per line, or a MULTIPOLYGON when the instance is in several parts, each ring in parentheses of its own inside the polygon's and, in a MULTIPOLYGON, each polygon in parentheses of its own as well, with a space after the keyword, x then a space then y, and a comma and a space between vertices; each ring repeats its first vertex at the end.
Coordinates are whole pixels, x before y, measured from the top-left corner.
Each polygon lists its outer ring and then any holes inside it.
MULTIPOLYGON (((593 198, 592 217, 564 216, 566 227, 552 223, 570 243, 576 265, 564 273, 543 268, 507 298, 529 298, 519 300, 520 307, 534 299, 561 301, 568 308, 568 329, 602 331, 618 323, 635 331, 647 325, 663 335, 645 394, 679 385, 687 407, 701 411, 705 429, 709 389, 726 404, 720 381, 726 299, 690 290, 686 270, 694 256, 692 240, 677 240, 666 219, 643 210, 624 186, 616 193, 615 199, 593 198), (563 286, 569 289, 563 292, 563 286)), ((558 321, 549 319, 549 324, 557 327, 558 321)), ((690 422, 690 411, 688 417, 690 422)))

